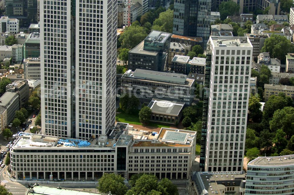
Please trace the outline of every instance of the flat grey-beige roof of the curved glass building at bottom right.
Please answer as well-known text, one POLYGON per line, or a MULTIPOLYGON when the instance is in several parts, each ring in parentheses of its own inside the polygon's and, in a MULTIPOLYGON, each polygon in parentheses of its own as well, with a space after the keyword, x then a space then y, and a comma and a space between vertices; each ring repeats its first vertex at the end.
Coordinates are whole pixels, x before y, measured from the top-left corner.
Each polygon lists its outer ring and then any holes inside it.
POLYGON ((281 157, 258 157, 248 163, 248 166, 294 166, 294 155, 287 155, 281 157))

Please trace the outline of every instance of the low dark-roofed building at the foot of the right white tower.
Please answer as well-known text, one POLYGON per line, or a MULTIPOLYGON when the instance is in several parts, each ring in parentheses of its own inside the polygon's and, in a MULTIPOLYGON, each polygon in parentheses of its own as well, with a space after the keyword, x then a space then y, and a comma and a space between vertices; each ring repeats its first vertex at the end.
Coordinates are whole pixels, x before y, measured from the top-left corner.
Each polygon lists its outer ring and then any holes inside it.
POLYGON ((240 194, 245 192, 246 174, 238 172, 193 172, 189 177, 189 195, 240 194))

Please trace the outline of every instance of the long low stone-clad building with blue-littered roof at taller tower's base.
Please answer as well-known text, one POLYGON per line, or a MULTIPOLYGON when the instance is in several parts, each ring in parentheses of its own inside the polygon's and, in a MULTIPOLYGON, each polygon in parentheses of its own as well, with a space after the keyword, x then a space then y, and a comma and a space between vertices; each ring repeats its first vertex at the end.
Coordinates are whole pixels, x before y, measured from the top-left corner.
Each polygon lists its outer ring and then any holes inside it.
POLYGON ((154 174, 158 179, 187 179, 195 160, 196 132, 161 128, 135 139, 139 131, 117 123, 109 136, 89 141, 19 133, 11 149, 17 179, 92 180, 104 173, 154 174), (129 135, 128 135, 129 134, 129 135), (146 139, 145 139, 146 137, 146 139), (21 146, 21 147, 19 147, 21 146))

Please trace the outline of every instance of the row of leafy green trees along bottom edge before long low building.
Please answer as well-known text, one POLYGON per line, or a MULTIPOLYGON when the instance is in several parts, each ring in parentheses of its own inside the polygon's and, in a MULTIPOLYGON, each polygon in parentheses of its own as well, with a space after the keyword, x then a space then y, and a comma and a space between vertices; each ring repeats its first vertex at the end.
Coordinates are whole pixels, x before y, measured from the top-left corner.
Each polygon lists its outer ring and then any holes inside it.
POLYGON ((134 174, 129 179, 131 189, 124 184, 124 178, 121 175, 103 174, 98 180, 97 189, 101 193, 116 195, 178 195, 178 189, 169 179, 163 178, 158 182, 155 175, 134 174))

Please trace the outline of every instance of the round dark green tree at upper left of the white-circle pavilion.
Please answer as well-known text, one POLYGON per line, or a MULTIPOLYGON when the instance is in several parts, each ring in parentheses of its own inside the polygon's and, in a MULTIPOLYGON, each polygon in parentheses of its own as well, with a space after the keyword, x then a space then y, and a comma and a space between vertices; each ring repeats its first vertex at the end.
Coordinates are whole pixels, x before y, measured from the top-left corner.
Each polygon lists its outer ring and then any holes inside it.
POLYGON ((120 98, 119 106, 126 114, 130 113, 133 110, 137 110, 140 105, 140 101, 138 97, 131 95, 129 97, 128 94, 124 95, 120 98))

